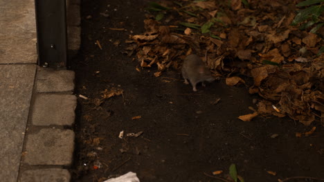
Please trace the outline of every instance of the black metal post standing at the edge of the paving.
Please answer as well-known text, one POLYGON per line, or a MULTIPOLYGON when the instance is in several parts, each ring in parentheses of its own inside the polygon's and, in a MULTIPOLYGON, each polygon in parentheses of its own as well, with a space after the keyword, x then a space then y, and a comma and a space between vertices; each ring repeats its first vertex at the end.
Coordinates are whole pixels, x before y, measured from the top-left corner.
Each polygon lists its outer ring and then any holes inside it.
POLYGON ((66 0, 35 0, 38 65, 66 68, 66 0))

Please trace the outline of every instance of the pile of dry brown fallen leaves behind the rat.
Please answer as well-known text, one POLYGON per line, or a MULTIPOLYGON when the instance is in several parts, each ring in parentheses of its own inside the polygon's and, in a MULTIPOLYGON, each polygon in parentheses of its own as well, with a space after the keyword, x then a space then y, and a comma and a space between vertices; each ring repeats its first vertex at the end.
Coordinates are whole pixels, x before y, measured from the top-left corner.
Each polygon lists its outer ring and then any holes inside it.
POLYGON ((142 68, 156 66, 159 77, 168 68, 181 68, 188 54, 206 56, 215 77, 235 76, 226 80, 231 85, 248 83, 241 75, 253 79, 250 93, 267 99, 258 103, 258 113, 289 116, 305 125, 324 122, 323 33, 291 26, 294 1, 152 4, 145 32, 127 41, 129 56, 136 54, 142 68))

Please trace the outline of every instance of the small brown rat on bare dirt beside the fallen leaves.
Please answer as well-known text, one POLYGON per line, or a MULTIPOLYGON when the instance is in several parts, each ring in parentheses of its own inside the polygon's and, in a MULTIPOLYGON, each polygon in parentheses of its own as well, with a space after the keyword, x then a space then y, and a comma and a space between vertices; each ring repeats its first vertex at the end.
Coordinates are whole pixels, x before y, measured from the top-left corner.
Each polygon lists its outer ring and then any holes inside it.
POLYGON ((189 80, 192 85, 192 90, 195 92, 197 91, 197 83, 202 82, 204 85, 204 81, 215 81, 210 70, 196 54, 190 54, 186 59, 184 59, 181 72, 183 79, 185 79, 184 83, 189 84, 189 80))

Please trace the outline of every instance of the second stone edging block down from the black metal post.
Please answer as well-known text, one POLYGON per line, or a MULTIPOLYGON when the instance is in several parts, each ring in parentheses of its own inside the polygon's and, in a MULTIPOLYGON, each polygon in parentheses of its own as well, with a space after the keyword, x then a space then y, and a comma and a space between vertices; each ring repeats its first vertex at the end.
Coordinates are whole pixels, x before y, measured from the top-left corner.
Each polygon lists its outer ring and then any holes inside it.
POLYGON ((77 98, 71 94, 36 94, 33 125, 72 125, 77 98))

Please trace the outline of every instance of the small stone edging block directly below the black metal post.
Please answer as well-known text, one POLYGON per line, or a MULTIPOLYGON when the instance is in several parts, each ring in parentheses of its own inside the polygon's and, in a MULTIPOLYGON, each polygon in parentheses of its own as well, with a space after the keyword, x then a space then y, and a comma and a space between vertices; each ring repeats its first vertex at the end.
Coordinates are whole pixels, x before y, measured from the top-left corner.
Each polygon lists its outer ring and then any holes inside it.
POLYGON ((75 74, 71 70, 37 69, 36 92, 72 92, 75 74))

